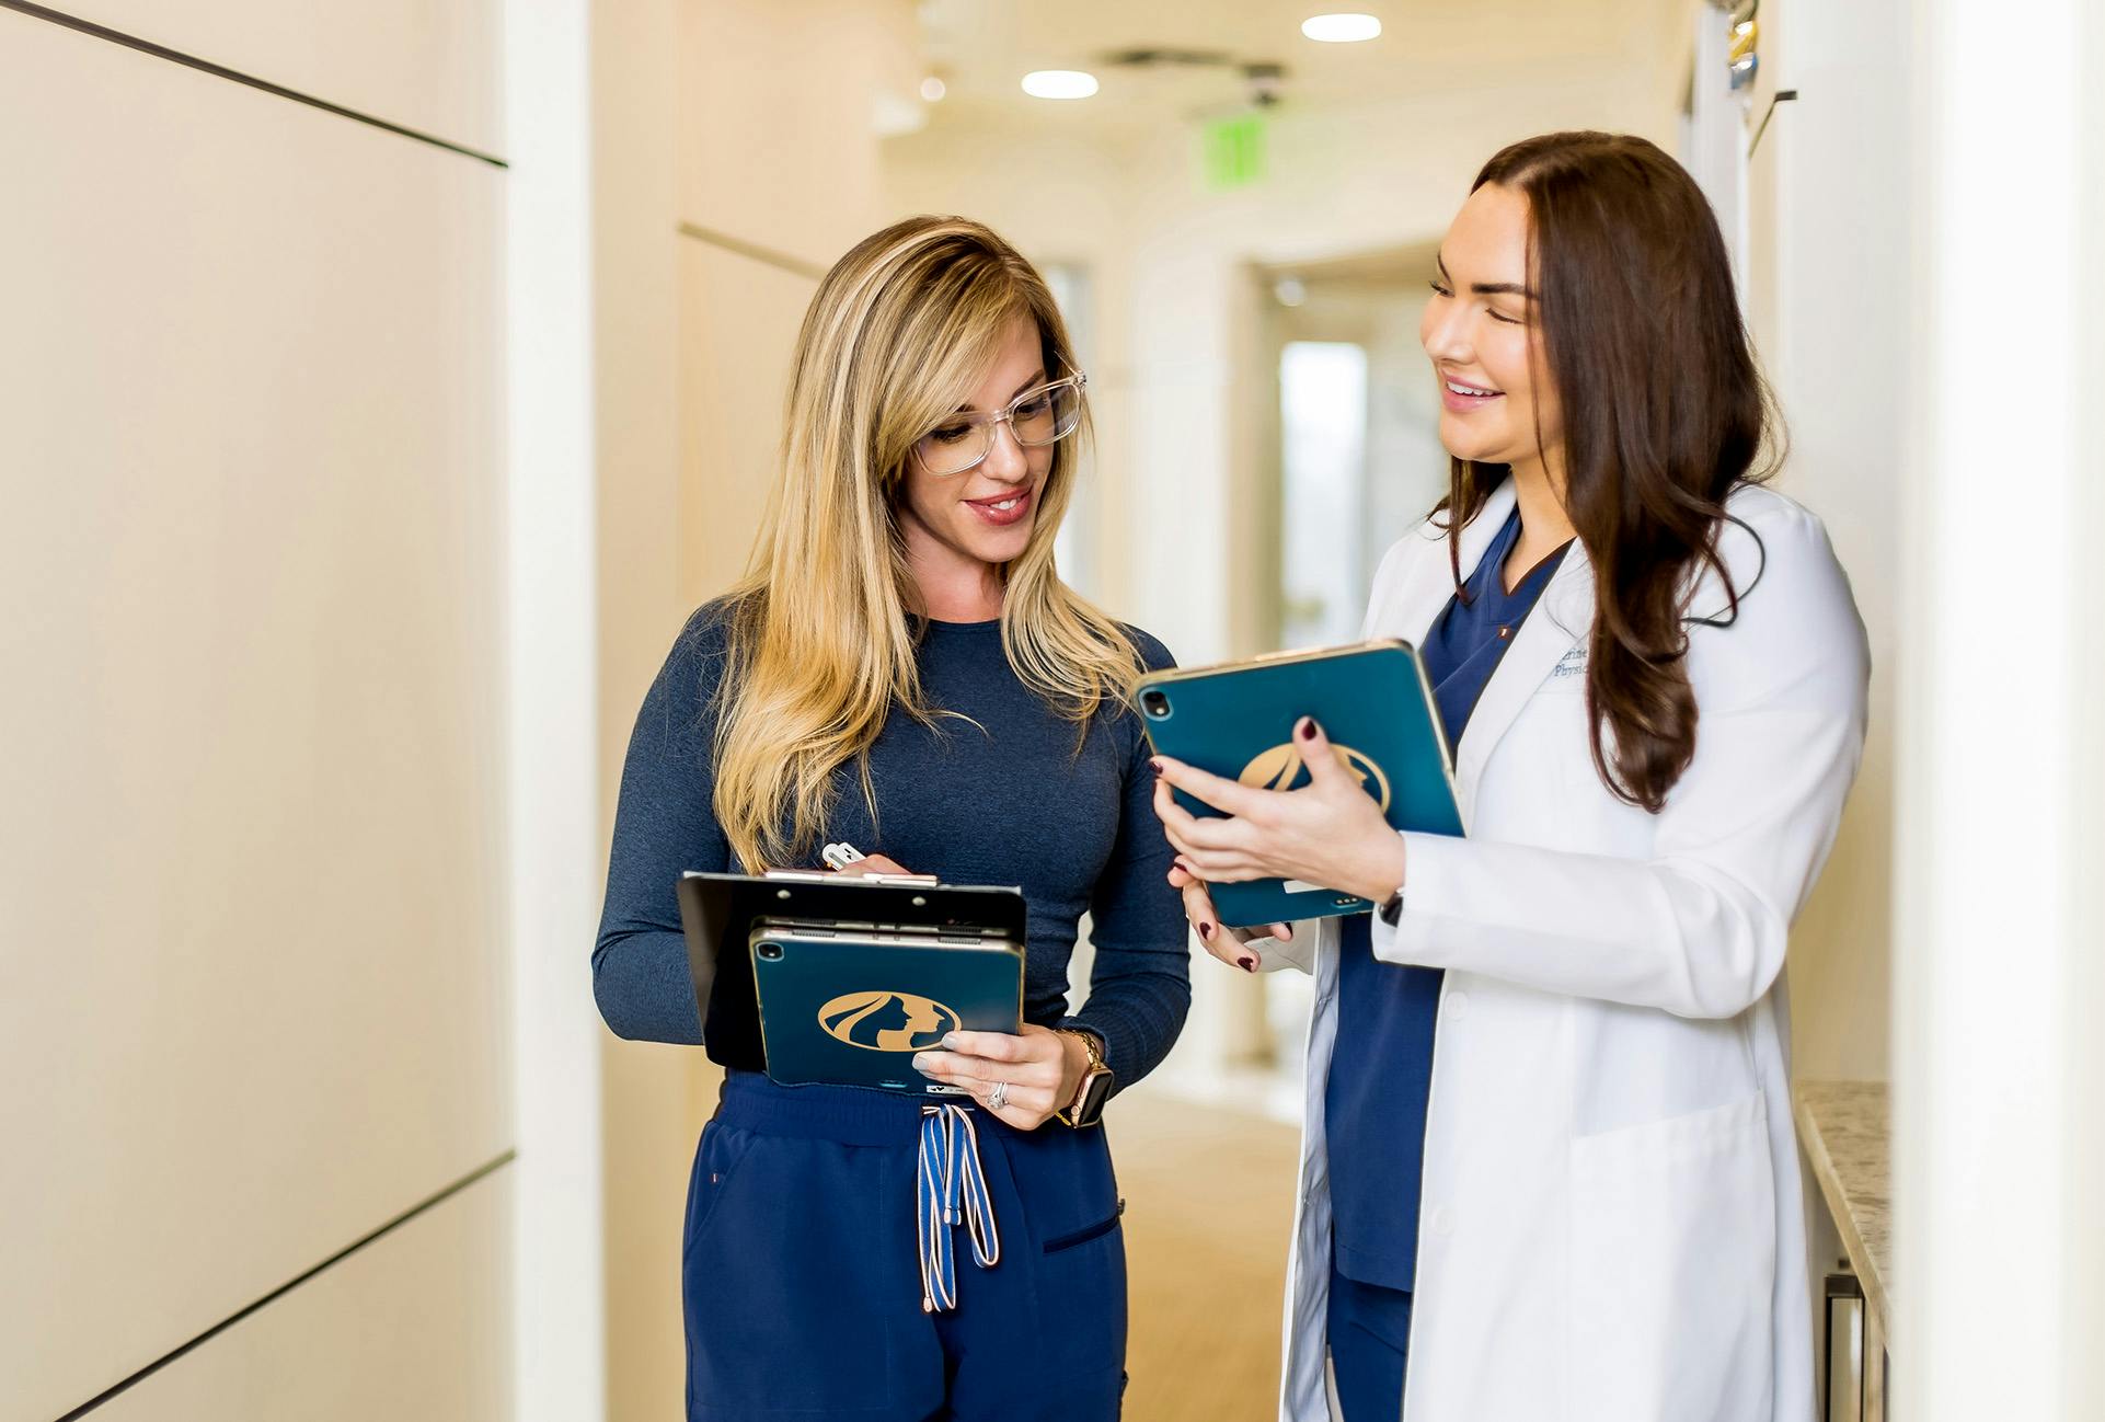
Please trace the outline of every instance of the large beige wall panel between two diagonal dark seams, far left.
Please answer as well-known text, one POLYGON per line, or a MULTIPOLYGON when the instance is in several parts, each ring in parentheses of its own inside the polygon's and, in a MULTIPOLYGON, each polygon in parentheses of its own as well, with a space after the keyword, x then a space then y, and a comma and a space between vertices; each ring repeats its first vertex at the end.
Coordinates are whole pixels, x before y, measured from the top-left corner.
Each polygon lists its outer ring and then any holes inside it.
POLYGON ((13 1420, 507 1142, 501 175, 0 13, 0 183, 13 1420))

